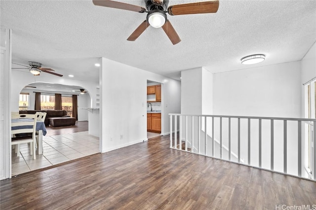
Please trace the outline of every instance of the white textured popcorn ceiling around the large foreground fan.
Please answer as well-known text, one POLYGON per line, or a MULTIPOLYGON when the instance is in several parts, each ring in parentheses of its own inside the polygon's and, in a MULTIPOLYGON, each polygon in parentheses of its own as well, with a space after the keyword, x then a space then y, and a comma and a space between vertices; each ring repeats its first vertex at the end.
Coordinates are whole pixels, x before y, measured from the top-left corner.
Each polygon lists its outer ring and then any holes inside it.
MULTIPOLYGON (((203 0, 169 5, 196 1, 203 0)), ((145 7, 143 0, 123 2, 145 7)), ((1 28, 13 31, 13 62, 38 61, 64 76, 95 81, 100 57, 179 79, 179 71, 200 66, 217 73, 301 60, 316 41, 314 0, 220 0, 214 14, 168 15, 182 39, 177 45, 153 27, 127 41, 146 14, 92 0, 1 0, 0 7, 1 28), (266 60, 240 63, 255 53, 266 60)))

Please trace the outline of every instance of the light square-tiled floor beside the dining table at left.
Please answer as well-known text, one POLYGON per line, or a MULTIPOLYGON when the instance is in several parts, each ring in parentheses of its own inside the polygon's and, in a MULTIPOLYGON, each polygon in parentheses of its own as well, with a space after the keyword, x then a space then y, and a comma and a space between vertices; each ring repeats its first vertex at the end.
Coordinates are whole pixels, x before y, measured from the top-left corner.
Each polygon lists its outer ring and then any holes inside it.
POLYGON ((21 144, 19 157, 12 149, 12 177, 98 152, 99 138, 88 131, 43 136, 43 154, 37 154, 35 160, 28 144, 21 144))

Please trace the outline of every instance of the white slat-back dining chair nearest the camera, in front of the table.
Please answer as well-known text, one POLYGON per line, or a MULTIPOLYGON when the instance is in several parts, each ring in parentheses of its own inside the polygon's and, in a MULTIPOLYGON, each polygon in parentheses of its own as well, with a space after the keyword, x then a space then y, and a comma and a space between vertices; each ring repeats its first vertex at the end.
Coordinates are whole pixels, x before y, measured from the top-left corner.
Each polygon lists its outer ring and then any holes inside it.
POLYGON ((20 155, 20 144, 30 143, 30 154, 33 155, 33 159, 36 159, 35 144, 37 115, 39 115, 38 112, 35 115, 11 115, 11 134, 13 135, 13 137, 11 137, 11 145, 16 145, 15 151, 17 156, 20 155))

